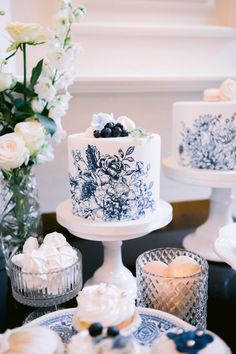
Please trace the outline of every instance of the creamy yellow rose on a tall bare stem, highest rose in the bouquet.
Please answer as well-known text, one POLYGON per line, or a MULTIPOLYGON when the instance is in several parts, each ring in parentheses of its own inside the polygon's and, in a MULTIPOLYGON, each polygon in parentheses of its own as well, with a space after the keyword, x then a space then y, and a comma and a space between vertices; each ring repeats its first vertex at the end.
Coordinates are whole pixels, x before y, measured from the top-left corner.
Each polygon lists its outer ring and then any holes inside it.
POLYGON ((43 27, 36 23, 12 22, 6 26, 6 30, 13 40, 10 49, 16 48, 21 43, 37 44, 46 40, 43 27))

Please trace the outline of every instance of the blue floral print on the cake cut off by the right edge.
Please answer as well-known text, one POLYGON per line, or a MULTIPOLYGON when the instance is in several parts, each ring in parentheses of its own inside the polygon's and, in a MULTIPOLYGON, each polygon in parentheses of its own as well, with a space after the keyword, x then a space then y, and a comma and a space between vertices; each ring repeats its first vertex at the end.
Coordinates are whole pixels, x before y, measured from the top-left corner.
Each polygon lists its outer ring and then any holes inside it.
POLYGON ((236 113, 230 118, 205 114, 192 128, 182 122, 181 164, 210 170, 236 169, 236 113))

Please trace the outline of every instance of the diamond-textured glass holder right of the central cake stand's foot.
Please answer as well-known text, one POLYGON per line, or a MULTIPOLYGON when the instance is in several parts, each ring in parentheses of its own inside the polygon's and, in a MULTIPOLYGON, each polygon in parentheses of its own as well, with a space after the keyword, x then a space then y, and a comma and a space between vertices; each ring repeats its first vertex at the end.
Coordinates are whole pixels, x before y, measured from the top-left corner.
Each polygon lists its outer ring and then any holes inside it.
POLYGON ((206 328, 208 263, 204 258, 184 249, 153 249, 137 258, 136 277, 137 306, 168 312, 193 326, 206 328), (177 256, 193 258, 201 271, 184 277, 164 277, 144 269, 144 265, 151 261, 168 265, 177 256))

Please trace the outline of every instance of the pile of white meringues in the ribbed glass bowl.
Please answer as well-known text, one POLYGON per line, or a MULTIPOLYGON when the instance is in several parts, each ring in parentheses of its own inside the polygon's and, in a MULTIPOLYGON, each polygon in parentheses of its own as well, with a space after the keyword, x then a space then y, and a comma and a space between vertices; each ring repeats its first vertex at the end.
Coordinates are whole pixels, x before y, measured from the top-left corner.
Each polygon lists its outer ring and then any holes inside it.
POLYGON ((62 234, 53 232, 46 235, 38 248, 35 248, 36 244, 32 240, 26 242, 27 253, 17 254, 11 259, 13 264, 21 268, 22 282, 26 289, 58 294, 66 282, 73 283, 73 279, 62 279, 60 271, 75 264, 78 255, 62 234))

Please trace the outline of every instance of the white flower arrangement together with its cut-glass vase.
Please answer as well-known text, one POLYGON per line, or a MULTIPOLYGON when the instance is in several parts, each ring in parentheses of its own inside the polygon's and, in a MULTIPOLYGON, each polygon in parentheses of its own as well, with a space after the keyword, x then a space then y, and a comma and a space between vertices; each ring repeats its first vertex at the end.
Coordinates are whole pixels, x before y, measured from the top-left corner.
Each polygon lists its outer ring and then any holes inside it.
MULTIPOLYGON (((0 241, 6 262, 29 236, 41 236, 41 214, 32 166, 53 159, 53 145, 65 137, 61 118, 68 110, 68 87, 75 78, 80 47, 72 25, 85 9, 60 0, 53 31, 41 25, 10 23, 8 56, 0 60, 0 241), (45 58, 27 75, 28 46, 47 45, 45 58), (22 80, 7 71, 21 53, 22 80)), ((3 15, 2 13, 0 13, 3 15)))

